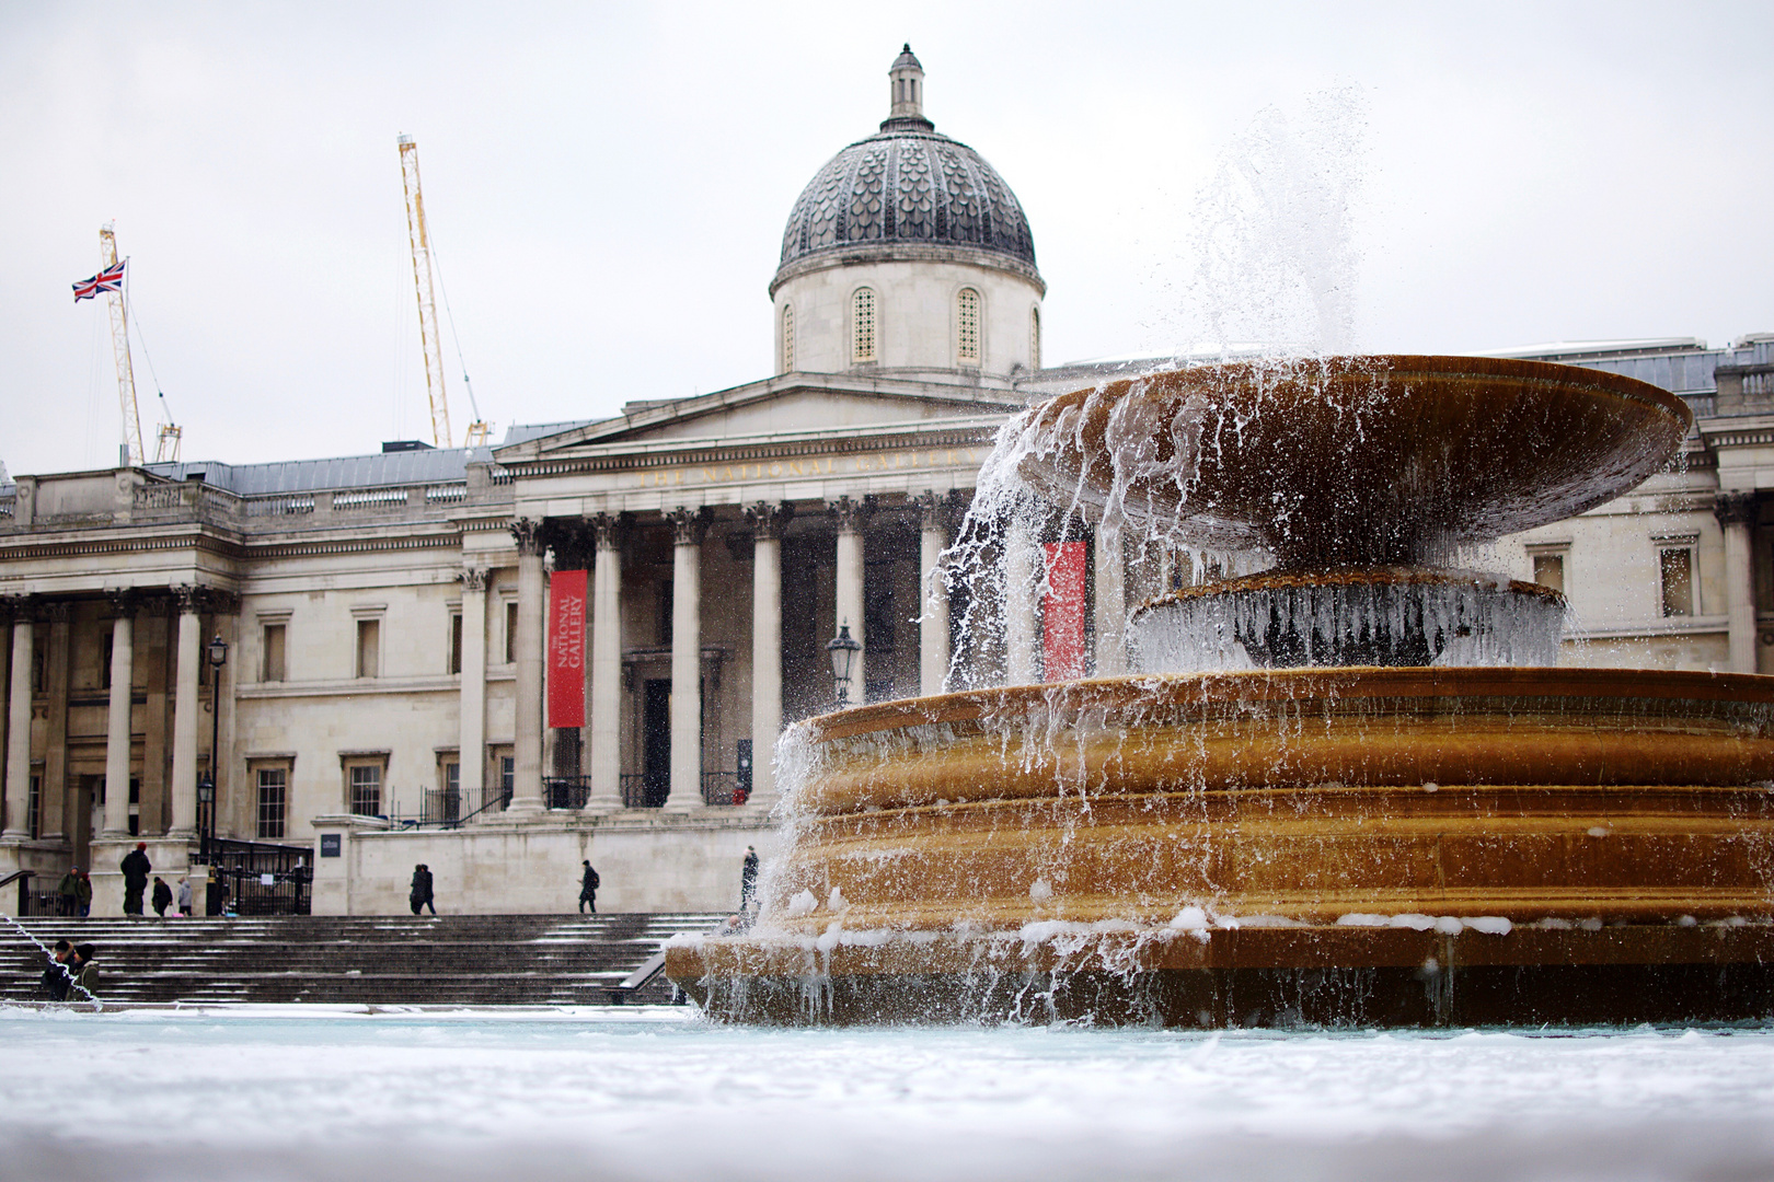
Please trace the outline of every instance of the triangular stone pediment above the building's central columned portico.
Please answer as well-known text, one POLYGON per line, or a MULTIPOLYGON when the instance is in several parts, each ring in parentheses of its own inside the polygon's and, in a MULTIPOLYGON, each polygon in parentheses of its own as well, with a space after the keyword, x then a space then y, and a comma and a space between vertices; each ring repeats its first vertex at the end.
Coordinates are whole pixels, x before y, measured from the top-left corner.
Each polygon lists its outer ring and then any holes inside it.
POLYGON ((699 439, 827 434, 891 424, 977 418, 1022 409, 999 388, 850 376, 786 374, 695 399, 648 404, 635 413, 539 436, 493 452, 500 464, 569 459, 580 452, 621 450, 699 439))

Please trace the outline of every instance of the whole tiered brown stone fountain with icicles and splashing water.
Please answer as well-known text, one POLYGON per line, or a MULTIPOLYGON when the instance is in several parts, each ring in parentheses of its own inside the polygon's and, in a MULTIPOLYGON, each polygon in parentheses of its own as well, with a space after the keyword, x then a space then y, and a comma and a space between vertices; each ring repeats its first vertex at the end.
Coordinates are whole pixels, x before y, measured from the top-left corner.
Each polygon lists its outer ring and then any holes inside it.
POLYGON ((789 730, 757 923, 681 941, 766 1023, 1469 1024, 1774 1014, 1774 679, 1554 668, 1563 597, 1465 571, 1662 470, 1691 413, 1485 358, 1203 365, 1001 436, 1066 514, 1263 574, 1130 677, 789 730))

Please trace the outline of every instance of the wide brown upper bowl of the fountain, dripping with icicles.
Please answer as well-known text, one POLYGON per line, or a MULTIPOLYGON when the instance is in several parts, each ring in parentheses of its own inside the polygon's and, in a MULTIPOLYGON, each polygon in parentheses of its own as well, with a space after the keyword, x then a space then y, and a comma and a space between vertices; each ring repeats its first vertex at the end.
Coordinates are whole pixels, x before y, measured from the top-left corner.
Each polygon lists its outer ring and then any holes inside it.
POLYGON ((1692 422, 1666 390, 1545 362, 1238 362, 1031 408, 1017 470, 1059 505, 1283 569, 1439 565, 1636 487, 1692 422))

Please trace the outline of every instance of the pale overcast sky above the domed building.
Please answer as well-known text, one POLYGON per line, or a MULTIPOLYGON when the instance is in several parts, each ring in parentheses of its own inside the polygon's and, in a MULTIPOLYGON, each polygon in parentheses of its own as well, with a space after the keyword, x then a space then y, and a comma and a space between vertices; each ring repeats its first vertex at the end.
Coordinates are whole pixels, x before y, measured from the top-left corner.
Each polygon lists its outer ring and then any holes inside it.
POLYGON ((1187 338, 1217 163, 1350 90, 1359 347, 1774 330, 1765 2, 0 0, 0 461, 115 463, 108 220, 147 434, 158 377, 186 459, 428 436, 397 133, 495 439, 766 376, 788 211, 903 41, 1029 214, 1048 363, 1187 338))

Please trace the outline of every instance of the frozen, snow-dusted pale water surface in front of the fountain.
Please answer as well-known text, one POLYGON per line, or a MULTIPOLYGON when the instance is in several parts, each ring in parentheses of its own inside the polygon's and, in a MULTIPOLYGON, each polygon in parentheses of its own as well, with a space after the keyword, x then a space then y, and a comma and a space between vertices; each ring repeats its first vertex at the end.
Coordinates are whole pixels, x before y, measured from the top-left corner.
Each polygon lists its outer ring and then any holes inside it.
POLYGON ((0 1010, 4 1178, 1774 1178, 1774 1030, 0 1010))

